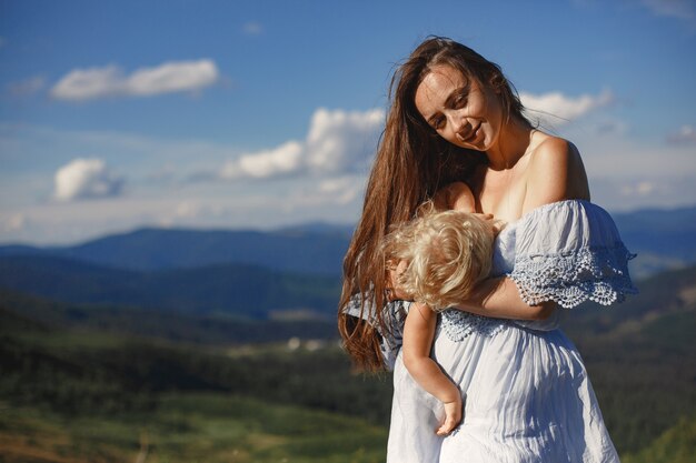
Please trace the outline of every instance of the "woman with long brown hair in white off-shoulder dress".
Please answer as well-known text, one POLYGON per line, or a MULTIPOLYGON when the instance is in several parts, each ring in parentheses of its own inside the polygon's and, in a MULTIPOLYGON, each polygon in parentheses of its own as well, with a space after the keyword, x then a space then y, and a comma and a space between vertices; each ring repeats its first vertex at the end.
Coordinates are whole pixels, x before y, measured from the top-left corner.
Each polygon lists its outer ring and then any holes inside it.
POLYGON ((357 363, 394 364, 388 461, 617 462, 583 361, 557 329, 557 305, 609 304, 635 292, 630 254, 589 202, 578 151, 536 130, 500 69, 451 40, 422 42, 391 89, 339 312, 357 363), (453 181, 467 182, 477 211, 507 227, 491 278, 440 315, 431 355, 465 404, 461 425, 441 437, 440 403, 404 368, 408 303, 392 301, 402 294, 388 284, 377 245, 453 181))

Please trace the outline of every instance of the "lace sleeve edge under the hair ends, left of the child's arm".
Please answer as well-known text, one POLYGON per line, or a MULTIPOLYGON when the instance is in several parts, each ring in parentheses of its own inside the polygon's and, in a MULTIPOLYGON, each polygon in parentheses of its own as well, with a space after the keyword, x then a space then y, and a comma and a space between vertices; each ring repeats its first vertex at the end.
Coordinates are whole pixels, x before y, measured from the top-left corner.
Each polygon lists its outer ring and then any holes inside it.
POLYGON ((362 296, 355 294, 344 308, 344 312, 355 318, 361 318, 368 323, 377 326, 380 336, 380 350, 385 368, 389 371, 394 370, 396 358, 401 349, 404 336, 404 322, 410 306, 407 301, 390 301, 382 308, 382 316, 388 330, 384 331, 377 323, 376 308, 372 296, 367 296, 365 308, 362 305, 362 296))

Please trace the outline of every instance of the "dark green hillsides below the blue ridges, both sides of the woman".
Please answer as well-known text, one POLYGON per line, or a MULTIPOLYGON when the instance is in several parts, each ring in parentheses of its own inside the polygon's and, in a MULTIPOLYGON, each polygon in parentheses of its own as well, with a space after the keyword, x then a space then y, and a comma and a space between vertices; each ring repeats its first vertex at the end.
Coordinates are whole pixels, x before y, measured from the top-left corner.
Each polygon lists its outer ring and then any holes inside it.
MULTIPOLYGON (((663 274, 565 320, 625 462, 693 454, 695 286, 663 274)), ((215 330, 239 320, 147 314, 0 293, 0 461, 384 461, 390 375, 351 373, 334 335, 247 344, 215 330)))

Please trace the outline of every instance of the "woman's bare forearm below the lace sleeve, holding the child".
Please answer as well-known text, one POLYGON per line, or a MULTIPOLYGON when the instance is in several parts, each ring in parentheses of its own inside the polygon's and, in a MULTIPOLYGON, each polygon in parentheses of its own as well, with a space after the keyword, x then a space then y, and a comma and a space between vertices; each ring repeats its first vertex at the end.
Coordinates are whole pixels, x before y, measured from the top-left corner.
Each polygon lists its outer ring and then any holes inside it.
POLYGON ((470 298, 457 309, 477 315, 513 320, 545 320, 556 309, 553 301, 528 305, 521 300, 517 285, 507 276, 493 278, 479 283, 470 298))

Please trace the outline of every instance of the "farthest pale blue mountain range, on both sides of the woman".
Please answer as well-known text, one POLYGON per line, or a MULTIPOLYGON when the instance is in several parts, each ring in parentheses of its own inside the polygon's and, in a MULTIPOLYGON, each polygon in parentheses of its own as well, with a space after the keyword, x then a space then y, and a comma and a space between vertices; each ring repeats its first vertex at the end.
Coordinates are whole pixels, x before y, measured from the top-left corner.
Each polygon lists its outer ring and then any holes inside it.
MULTIPOLYGON (((642 279, 696 263, 696 207, 613 214, 642 279)), ((0 246, 3 255, 53 255, 115 269, 157 271, 251 264, 277 271, 340 275, 352 228, 307 223, 277 231, 141 229, 72 246, 0 246)))

